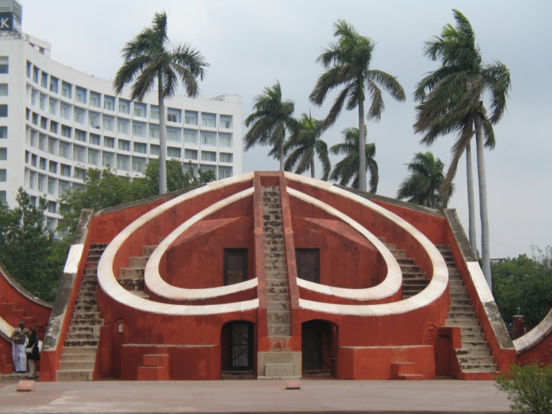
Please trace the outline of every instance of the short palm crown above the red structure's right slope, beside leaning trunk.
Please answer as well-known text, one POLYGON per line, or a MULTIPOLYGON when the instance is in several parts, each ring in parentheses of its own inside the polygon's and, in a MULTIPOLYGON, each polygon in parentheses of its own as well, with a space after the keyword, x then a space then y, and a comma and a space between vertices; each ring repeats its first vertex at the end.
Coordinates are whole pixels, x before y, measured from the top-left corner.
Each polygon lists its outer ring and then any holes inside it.
POLYGON ((435 159, 433 153, 417 152, 414 159, 406 164, 411 175, 402 181, 397 191, 397 199, 407 199, 409 203, 430 208, 446 208, 454 193, 454 184, 449 186, 446 197, 440 197, 444 181, 444 164, 435 159))

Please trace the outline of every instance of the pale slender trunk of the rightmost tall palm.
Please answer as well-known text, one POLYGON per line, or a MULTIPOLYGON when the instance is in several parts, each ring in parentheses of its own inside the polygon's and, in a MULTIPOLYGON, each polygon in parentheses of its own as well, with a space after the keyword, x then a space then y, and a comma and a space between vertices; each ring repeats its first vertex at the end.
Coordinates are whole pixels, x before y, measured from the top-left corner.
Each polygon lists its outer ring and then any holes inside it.
POLYGON ((481 215, 481 257, 483 275, 492 291, 491 256, 489 253, 489 213, 487 213, 487 184, 485 174, 485 154, 480 114, 475 114, 475 141, 477 143, 477 178, 479 179, 479 206, 481 215))

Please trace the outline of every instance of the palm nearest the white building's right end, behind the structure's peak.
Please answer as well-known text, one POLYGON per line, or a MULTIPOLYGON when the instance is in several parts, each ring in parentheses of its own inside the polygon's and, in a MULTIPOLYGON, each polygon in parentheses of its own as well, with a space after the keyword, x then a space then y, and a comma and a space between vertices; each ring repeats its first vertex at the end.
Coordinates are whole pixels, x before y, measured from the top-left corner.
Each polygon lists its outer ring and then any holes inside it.
POLYGON ((244 149, 259 145, 270 145, 268 152, 280 161, 280 171, 284 171, 284 144, 286 132, 293 133, 299 129, 299 123, 293 117, 295 102, 290 99, 282 101, 282 87, 279 81, 272 87, 264 88, 261 95, 253 99, 253 112, 246 118, 246 126, 251 126, 244 135, 244 149))

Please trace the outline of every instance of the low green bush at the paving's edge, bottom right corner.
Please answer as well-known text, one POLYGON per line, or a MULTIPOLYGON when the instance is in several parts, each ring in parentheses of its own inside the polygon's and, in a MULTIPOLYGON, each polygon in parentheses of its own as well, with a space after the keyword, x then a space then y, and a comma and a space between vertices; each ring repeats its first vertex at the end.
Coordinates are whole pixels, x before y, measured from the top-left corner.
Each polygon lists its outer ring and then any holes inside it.
POLYGON ((511 365, 496 378, 495 386, 508 394, 512 411, 550 414, 552 407, 552 366, 511 365))

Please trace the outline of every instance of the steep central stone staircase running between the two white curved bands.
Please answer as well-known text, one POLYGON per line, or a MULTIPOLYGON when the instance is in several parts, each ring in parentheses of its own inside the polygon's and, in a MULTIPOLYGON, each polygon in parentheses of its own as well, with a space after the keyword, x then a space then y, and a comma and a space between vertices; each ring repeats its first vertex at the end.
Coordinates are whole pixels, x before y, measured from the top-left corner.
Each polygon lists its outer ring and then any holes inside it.
POLYGON ((268 336, 290 337, 288 270, 278 186, 262 187, 268 336))

